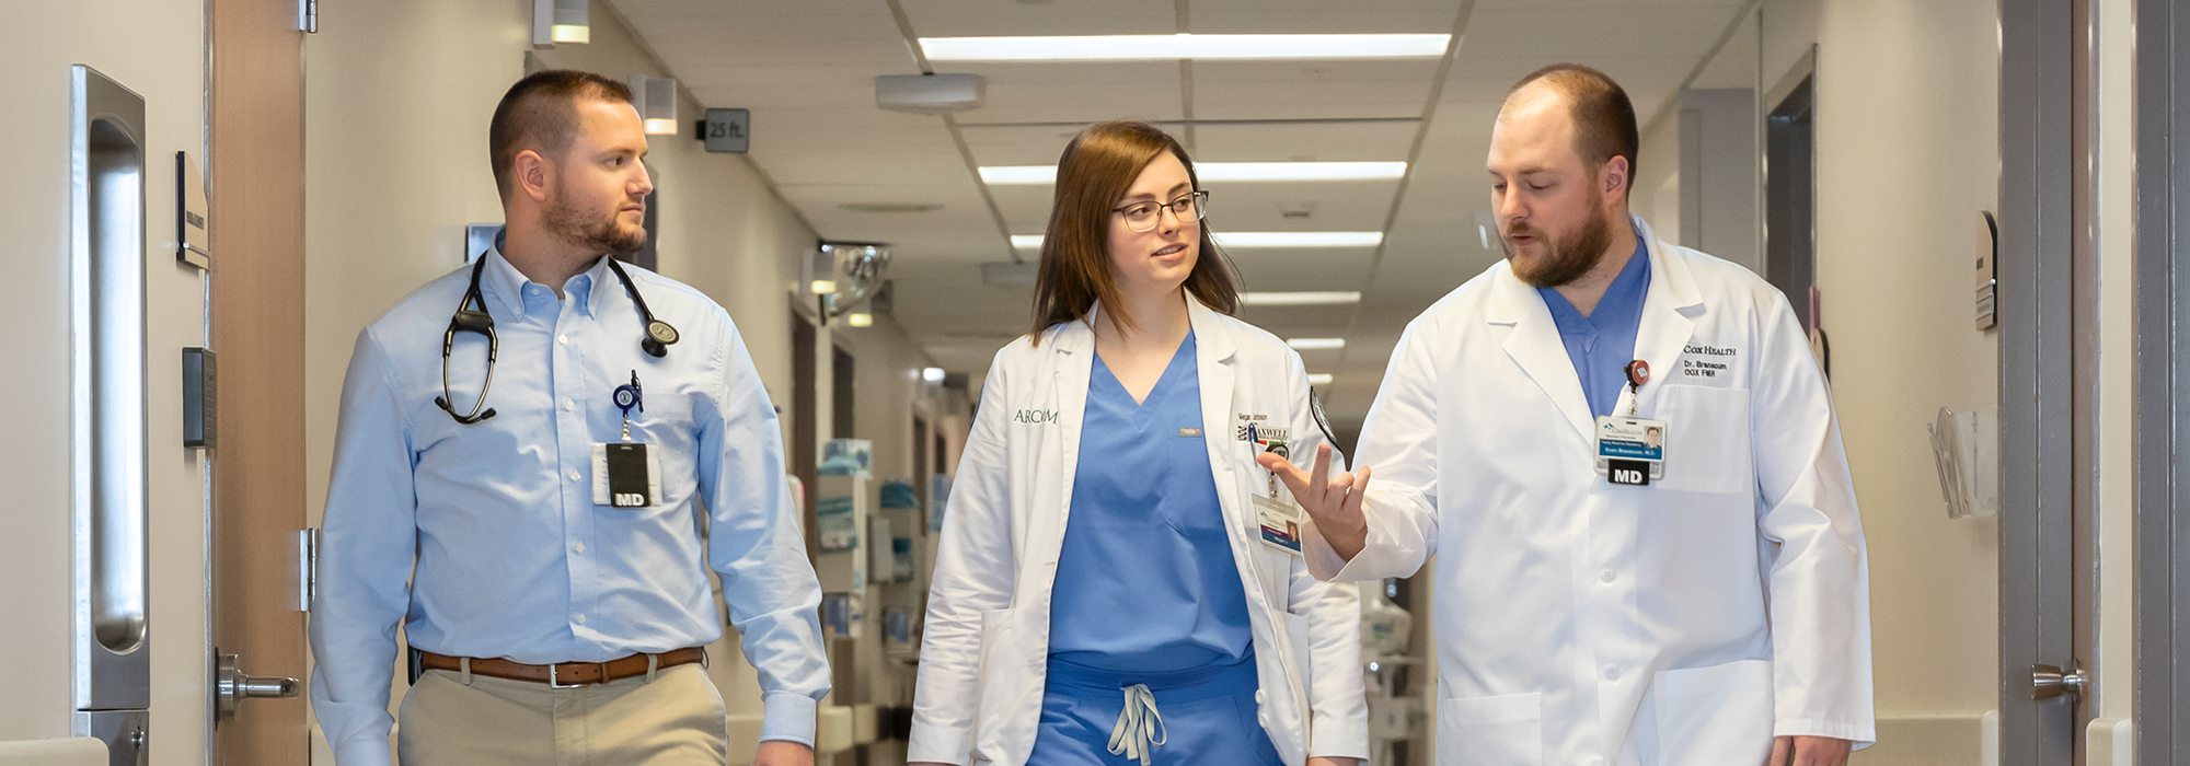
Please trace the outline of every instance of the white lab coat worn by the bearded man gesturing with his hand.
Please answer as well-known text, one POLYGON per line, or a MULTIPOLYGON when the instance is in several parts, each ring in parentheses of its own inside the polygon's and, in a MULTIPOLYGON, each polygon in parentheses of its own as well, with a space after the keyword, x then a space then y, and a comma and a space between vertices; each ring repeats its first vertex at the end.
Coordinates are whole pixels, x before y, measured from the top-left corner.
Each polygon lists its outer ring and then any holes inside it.
POLYGON ((1774 735, 1875 738, 1864 532, 1802 326, 1754 274, 1634 223, 1662 481, 1597 473, 1551 311, 1498 263, 1391 355, 1356 453, 1367 547, 1342 562, 1307 532, 1334 580, 1439 556, 1439 764, 1761 764, 1774 735))

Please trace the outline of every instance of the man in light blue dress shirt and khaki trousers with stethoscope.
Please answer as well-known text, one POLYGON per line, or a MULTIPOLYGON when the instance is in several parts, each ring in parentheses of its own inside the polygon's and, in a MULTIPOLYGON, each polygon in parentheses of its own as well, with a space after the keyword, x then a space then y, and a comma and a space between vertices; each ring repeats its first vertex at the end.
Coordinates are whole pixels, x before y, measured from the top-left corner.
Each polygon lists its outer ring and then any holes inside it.
POLYGON ((357 337, 311 615, 339 766, 390 762, 399 626, 403 764, 723 764, 710 569, 760 672, 756 764, 812 764, 821 589, 775 411, 723 306, 604 256, 646 241, 629 101, 510 88, 497 247, 357 337))

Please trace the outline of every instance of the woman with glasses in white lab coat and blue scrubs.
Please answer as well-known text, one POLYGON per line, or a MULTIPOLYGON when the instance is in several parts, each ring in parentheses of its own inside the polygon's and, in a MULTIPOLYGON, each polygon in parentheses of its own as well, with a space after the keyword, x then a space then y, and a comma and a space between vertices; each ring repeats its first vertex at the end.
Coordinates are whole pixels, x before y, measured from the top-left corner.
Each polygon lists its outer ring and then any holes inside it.
POLYGON ((1163 131, 1058 160, 1036 326, 996 352, 929 595, 915 764, 1353 764, 1360 606, 1259 451, 1325 442, 1296 352, 1231 317, 1163 131))

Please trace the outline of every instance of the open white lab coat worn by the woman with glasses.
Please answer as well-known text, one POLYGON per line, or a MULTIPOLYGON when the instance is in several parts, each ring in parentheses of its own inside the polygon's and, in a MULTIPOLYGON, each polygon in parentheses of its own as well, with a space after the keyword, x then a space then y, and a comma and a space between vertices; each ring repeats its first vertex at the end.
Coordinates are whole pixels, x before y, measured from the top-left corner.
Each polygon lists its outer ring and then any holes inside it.
MULTIPOLYGON (((1248 422, 1281 431, 1294 455, 1323 444, 1307 372, 1270 333, 1187 302, 1202 436, 1246 587, 1257 718, 1286 764, 1367 757, 1358 593, 1316 582, 1299 556, 1261 543, 1248 499, 1268 486, 1244 436, 1248 422)), ((935 554, 911 762, 1025 764, 1034 751, 1093 359, 1095 330, 1069 322, 1045 330, 1040 346, 1021 337, 990 365, 935 554)), ((1117 565, 1119 576, 1132 567, 1117 565)))

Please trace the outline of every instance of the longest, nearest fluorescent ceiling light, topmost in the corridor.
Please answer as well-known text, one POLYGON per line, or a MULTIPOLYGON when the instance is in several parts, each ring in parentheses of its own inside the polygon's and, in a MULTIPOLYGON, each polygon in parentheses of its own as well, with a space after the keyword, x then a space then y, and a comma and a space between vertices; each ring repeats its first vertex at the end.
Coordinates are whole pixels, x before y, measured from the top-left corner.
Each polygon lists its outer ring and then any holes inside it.
POLYGON ((1434 59, 1452 35, 920 37, 929 61, 1434 59))

